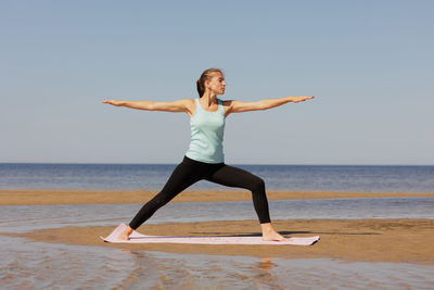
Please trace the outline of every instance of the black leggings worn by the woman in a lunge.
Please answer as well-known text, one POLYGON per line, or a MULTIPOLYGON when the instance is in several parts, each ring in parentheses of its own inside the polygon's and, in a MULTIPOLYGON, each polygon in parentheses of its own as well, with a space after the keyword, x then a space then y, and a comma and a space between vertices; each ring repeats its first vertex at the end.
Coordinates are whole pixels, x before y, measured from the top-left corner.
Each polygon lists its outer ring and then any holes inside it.
POLYGON ((228 187, 245 188, 252 191, 253 205, 260 224, 270 223, 268 201, 264 180, 246 171, 228 166, 225 163, 209 164, 187 156, 175 168, 163 190, 140 209, 129 226, 137 229, 159 207, 168 203, 199 180, 208 180, 228 187))

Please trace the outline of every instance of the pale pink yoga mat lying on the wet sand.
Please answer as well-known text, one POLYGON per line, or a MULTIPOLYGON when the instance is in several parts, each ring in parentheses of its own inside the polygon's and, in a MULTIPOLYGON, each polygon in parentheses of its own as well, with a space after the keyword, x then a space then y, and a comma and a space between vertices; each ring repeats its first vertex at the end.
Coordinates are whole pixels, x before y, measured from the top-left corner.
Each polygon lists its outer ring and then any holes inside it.
POLYGON ((117 226, 112 234, 103 239, 113 243, 202 243, 202 244, 296 244, 310 245, 319 240, 319 236, 307 238, 291 238, 289 241, 263 241, 263 237, 179 237, 179 236, 145 236, 136 230, 129 240, 119 240, 117 237, 127 227, 125 224, 117 226))

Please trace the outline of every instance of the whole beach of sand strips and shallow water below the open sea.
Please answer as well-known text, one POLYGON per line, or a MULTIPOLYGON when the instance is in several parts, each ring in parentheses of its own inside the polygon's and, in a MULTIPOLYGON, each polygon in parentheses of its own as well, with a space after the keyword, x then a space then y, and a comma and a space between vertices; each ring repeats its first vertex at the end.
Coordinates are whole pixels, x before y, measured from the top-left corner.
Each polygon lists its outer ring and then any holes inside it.
MULTIPOLYGON (((156 191, 0 190, 8 289, 429 289, 434 193, 268 191, 276 229, 312 245, 104 242, 156 191), (332 279, 331 279, 332 277, 332 279)), ((155 236, 260 236, 245 190, 188 190, 138 228, 155 236)))

